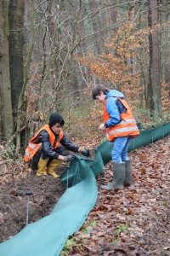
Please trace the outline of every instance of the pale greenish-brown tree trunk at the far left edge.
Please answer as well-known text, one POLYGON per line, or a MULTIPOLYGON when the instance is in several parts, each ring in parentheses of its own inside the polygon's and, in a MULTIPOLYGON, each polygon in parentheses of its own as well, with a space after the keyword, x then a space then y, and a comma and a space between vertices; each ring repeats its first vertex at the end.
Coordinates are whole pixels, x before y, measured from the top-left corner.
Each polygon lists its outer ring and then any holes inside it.
POLYGON ((11 88, 8 63, 8 1, 0 1, 0 137, 13 134, 11 88))

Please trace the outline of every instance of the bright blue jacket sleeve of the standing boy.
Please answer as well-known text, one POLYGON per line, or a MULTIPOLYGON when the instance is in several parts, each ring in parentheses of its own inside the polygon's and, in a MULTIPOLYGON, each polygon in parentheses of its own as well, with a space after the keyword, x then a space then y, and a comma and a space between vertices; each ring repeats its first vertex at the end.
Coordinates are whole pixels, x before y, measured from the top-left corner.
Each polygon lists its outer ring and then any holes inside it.
POLYGON ((120 123, 121 116, 119 113, 119 109, 117 108, 117 105, 116 105, 116 98, 114 97, 108 98, 108 100, 106 101, 105 107, 106 107, 107 113, 110 116, 110 119, 108 119, 107 122, 105 122, 105 125, 107 127, 112 127, 120 123))

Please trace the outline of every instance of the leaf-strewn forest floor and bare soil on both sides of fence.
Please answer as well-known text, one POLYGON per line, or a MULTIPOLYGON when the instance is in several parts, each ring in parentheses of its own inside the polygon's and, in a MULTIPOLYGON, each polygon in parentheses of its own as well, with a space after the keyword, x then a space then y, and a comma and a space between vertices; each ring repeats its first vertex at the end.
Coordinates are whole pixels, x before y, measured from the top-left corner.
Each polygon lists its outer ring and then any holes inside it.
MULTIPOLYGON (((111 162, 97 177, 98 201, 61 255, 170 255, 170 137, 131 152, 133 185, 106 191, 111 162)), ((9 170, 0 160, 0 242, 46 216, 65 192, 58 178, 9 170), (32 195, 26 195, 31 191, 32 195), (29 218, 27 218, 29 207, 29 218)), ((57 171, 62 172, 65 166, 57 171)))

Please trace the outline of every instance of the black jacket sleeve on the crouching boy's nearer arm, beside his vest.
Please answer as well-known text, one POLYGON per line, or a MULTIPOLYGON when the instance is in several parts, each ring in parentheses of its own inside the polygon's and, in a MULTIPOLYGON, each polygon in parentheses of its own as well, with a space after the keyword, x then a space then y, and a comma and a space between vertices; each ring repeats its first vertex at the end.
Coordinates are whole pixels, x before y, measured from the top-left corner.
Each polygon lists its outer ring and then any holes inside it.
POLYGON ((43 154, 47 155, 48 157, 58 159, 59 154, 57 154, 51 146, 48 131, 45 131, 45 130, 41 131, 40 134, 38 135, 38 140, 39 142, 42 143, 43 154))

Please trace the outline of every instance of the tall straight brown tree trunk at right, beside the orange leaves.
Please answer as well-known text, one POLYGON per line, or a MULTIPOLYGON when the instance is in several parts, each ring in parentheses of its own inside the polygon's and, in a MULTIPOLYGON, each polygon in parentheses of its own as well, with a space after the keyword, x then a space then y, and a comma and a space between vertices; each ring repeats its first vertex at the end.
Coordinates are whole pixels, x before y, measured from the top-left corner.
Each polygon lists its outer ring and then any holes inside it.
POLYGON ((161 116, 161 55, 160 55, 160 29, 158 24, 157 0, 148 0, 148 25, 150 27, 149 49, 150 68, 147 91, 147 108, 150 113, 161 116))

